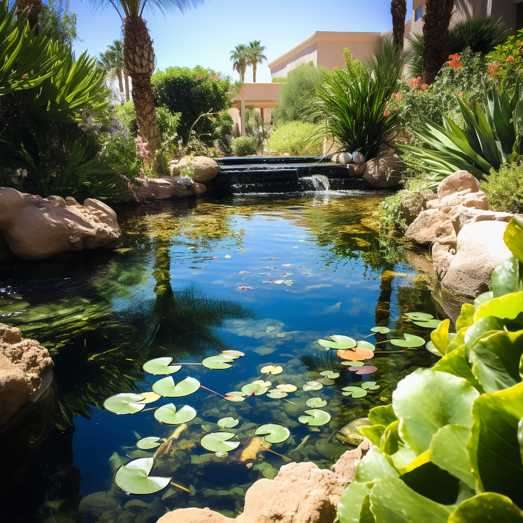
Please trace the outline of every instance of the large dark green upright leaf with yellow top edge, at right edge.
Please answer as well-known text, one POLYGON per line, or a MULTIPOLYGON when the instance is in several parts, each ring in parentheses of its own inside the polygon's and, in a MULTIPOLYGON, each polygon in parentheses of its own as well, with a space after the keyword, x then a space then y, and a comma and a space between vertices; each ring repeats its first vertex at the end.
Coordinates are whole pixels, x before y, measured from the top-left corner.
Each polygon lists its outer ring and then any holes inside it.
POLYGON ((468 450, 480 490, 503 494, 523 506, 523 465, 518 441, 523 383, 482 394, 474 402, 472 414, 468 450))

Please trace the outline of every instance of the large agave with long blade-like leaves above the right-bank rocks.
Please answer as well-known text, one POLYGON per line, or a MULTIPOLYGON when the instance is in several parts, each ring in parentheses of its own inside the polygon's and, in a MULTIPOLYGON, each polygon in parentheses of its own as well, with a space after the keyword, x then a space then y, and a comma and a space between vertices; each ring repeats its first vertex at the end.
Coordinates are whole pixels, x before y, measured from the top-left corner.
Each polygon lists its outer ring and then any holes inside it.
POLYGON ((496 87, 486 91, 474 111, 458 99, 464 128, 444 116, 443 126, 427 121, 423 127, 413 129, 427 147, 398 146, 412 153, 411 163, 444 176, 464 169, 482 178, 492 168, 497 170, 505 162, 513 162, 521 154, 521 85, 517 82, 511 99, 500 91, 496 87))

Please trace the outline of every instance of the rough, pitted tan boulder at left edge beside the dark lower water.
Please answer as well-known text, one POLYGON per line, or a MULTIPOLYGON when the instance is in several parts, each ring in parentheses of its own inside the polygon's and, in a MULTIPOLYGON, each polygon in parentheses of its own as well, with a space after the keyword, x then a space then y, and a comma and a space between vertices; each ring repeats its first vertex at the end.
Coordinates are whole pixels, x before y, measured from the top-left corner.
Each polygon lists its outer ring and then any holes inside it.
POLYGON ((0 425, 31 399, 52 366, 46 348, 0 323, 0 425))

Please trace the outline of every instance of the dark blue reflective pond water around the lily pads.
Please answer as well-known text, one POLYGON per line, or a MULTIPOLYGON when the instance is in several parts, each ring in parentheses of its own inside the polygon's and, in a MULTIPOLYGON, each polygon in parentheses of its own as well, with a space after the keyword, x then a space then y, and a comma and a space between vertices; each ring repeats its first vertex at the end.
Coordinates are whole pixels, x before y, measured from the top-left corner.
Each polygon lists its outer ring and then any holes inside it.
POLYGON ((390 402, 400 379, 435 361, 424 347, 399 351, 382 343, 370 360, 378 370, 357 376, 317 343, 332 334, 361 340, 376 325, 393 330, 366 338, 371 343, 404 332, 429 339, 430 329, 404 316, 436 309, 424 276, 402 261, 401 249, 380 244, 373 213, 382 198, 340 191, 144 204, 119 213, 123 244, 116 251, 4 265, 0 321, 49 348, 58 396, 32 448, 17 451, 18 435, 4 435, 2 453, 17 473, 3 479, 13 502, 2 504, 0 518, 149 523, 190 506, 233 516, 247 488, 286 463, 281 456, 328 468, 354 448, 357 441, 340 429, 390 402), (193 394, 162 397, 130 415, 102 407, 112 394, 151 391, 163 378, 143 372, 152 358, 201 363, 225 349, 245 356, 225 370, 183 365, 173 374, 176 382, 199 380, 202 388, 193 394), (267 365, 282 372, 261 374, 267 365), (340 376, 328 380, 320 374, 325 370, 340 376), (271 388, 290 383, 297 391, 284 399, 222 397, 261 378, 271 388), (361 380, 379 389, 342 395, 361 380), (304 391, 308 381, 322 381, 321 389, 304 391), (327 402, 328 423, 299 422, 312 397, 327 402), (190 405, 197 417, 155 461, 152 475, 172 476, 189 492, 169 484, 155 494, 129 495, 113 484, 113 473, 129 459, 152 456, 155 449, 136 447, 139 438, 168 438, 177 428, 154 418, 152 408, 167 403, 190 405), (220 430, 217 421, 226 416, 239 420, 225 430, 241 445, 217 456, 199 441, 220 430), (264 423, 284 425, 291 437, 272 445, 249 439, 264 423))

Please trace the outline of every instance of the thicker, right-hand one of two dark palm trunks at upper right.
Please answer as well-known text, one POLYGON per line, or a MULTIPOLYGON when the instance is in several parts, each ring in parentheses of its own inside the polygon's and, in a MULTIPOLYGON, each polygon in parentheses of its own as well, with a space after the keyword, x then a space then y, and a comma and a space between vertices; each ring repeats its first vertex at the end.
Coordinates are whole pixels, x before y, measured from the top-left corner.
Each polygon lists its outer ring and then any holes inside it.
POLYGON ((426 0, 423 22, 423 83, 431 84, 449 56, 454 0, 426 0))

